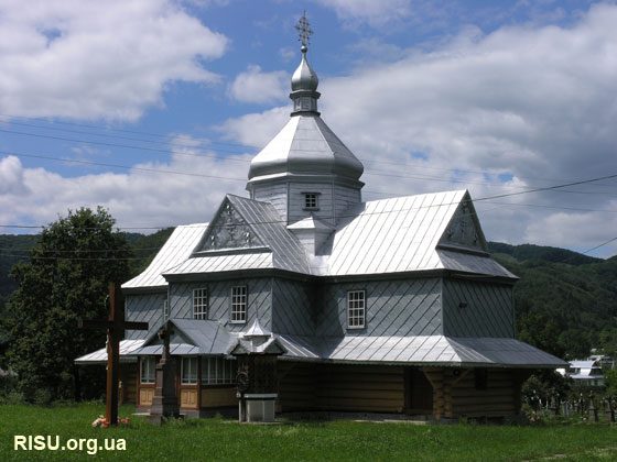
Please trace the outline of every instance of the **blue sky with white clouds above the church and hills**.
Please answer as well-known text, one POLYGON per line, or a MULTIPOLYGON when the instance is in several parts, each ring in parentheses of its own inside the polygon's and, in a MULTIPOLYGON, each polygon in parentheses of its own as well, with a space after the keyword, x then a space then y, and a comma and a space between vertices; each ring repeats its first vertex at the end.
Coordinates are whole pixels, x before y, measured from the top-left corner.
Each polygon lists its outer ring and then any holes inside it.
POLYGON ((617 254, 617 3, 583 0, 0 0, 0 233, 247 196, 304 10, 364 200, 468 189, 490 241, 617 254))

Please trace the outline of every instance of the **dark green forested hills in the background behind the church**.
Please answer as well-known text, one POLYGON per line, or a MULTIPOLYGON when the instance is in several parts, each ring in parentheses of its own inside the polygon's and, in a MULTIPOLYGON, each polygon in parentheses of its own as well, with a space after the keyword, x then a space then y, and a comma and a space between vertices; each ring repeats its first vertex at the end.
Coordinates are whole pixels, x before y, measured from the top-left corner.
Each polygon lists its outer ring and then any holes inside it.
MULTIPOLYGON (((173 229, 127 234, 133 275, 143 271, 173 229)), ((0 235, 0 314, 15 289, 11 266, 35 245, 33 235, 0 235)), ((561 358, 580 359, 603 341, 617 341, 617 256, 594 258, 564 249, 489 242, 492 256, 520 277, 516 285, 518 338, 561 358), (603 333, 604 332, 604 333, 603 333), (602 339, 600 339, 602 338, 602 339)))

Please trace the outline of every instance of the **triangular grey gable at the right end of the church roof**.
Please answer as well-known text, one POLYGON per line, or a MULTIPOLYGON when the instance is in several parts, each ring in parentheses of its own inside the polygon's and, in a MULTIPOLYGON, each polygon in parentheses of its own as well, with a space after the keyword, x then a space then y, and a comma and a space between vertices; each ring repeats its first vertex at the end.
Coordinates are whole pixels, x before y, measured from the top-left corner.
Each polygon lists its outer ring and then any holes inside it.
POLYGON ((456 208, 437 246, 462 248, 488 253, 488 245, 469 194, 465 194, 456 208))

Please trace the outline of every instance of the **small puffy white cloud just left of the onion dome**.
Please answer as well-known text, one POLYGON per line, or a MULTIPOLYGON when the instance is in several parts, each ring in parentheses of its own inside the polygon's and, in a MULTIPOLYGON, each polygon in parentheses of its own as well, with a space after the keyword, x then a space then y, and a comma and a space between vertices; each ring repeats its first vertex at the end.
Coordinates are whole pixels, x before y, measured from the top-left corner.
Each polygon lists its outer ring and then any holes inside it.
POLYGON ((229 85, 228 95, 237 101, 267 103, 284 100, 290 92, 290 76, 284 70, 261 72, 257 65, 248 66, 229 85))

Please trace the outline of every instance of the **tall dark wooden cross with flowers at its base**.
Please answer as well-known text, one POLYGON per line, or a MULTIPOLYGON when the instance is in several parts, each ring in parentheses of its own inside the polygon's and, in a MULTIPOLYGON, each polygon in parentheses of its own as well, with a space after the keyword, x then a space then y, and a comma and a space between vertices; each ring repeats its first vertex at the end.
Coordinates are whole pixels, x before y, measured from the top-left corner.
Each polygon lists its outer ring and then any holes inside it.
POLYGON ((120 370, 120 340, 125 337, 125 329, 148 330, 148 322, 125 321, 125 298, 120 287, 109 284, 109 318, 99 320, 83 320, 79 318, 79 329, 107 329, 107 410, 106 419, 109 425, 118 425, 118 375, 120 370))

